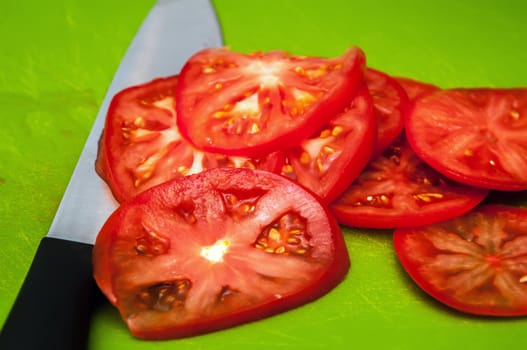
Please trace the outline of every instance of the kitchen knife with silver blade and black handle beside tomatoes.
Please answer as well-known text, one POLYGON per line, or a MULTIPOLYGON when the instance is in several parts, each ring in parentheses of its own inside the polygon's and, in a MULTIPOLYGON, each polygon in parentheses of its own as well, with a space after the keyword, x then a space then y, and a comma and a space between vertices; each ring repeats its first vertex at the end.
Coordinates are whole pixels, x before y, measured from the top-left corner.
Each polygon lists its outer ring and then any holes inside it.
POLYGON ((92 276, 92 248, 118 203, 96 174, 98 140, 120 90, 179 72, 192 54, 222 46, 209 0, 158 0, 107 90, 93 128, 0 333, 0 349, 86 349, 92 311, 102 294, 92 276))

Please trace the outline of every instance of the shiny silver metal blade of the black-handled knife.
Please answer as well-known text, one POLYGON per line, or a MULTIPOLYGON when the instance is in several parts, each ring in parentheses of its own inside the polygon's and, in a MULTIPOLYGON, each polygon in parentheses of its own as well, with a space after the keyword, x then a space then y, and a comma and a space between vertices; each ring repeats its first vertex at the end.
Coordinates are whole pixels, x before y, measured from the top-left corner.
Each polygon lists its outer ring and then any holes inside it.
POLYGON ((112 97, 128 86, 179 72, 200 49, 221 46, 213 11, 208 1, 191 0, 160 0, 151 10, 108 89, 48 236, 93 244, 117 205, 93 167, 112 97))

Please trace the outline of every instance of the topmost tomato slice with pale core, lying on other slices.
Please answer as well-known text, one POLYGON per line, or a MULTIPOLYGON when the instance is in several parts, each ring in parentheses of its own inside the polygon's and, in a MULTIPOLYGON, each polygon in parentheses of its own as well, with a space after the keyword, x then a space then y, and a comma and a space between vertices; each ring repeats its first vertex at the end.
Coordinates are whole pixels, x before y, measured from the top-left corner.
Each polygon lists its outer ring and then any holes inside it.
POLYGON ((179 128, 213 152, 262 156, 292 147, 349 105, 364 64, 356 47, 337 58, 203 50, 181 71, 179 128))

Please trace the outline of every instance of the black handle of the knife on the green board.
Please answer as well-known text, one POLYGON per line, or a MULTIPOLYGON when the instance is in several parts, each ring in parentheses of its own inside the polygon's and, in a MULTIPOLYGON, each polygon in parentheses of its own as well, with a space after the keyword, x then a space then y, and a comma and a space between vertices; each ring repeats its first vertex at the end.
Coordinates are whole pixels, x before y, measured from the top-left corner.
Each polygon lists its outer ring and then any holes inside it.
MULTIPOLYGON (((45 237, 0 333, 2 350, 86 349, 98 288, 90 244, 45 237)), ((100 294, 100 292, 99 292, 100 294)))

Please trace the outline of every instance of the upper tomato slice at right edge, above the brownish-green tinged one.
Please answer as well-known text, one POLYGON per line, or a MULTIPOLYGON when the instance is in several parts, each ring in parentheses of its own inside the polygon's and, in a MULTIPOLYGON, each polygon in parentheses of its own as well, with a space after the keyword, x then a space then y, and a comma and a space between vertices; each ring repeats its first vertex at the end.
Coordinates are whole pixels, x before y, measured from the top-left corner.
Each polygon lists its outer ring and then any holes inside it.
POLYGON ((442 174, 488 189, 527 189, 527 88, 439 90, 415 101, 412 148, 442 174))

